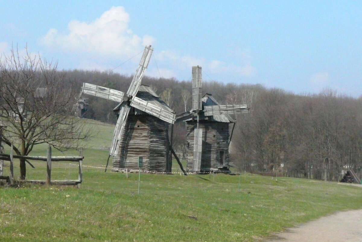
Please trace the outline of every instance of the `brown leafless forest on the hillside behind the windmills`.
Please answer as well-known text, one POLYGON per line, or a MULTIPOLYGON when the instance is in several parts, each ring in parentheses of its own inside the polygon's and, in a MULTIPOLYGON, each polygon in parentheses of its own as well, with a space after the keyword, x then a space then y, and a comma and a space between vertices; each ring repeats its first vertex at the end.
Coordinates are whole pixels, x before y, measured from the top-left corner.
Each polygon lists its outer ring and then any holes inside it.
MULTIPOLYGON (((83 82, 126 92, 132 76, 98 71, 64 71, 77 86, 83 82)), ((190 110, 191 80, 143 77, 176 114, 190 110)), ((285 176, 338 181, 342 171, 361 176, 362 98, 337 95, 333 90, 296 95, 262 85, 204 81, 202 93, 220 104, 247 104, 249 114, 238 115, 232 136, 231 161, 249 172, 279 171, 285 176)), ((88 97, 86 118, 115 123, 112 101, 88 97)), ((184 124, 174 127, 173 145, 184 153, 184 124)))

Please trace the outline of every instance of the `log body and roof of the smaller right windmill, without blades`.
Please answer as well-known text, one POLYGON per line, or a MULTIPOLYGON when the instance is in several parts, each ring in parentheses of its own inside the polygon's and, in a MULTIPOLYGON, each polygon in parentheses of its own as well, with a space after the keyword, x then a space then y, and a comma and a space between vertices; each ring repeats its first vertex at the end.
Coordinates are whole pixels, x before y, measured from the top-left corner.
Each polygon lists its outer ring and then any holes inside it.
MULTIPOLYGON (((219 103, 211 94, 202 97, 202 109, 205 106, 215 106, 219 103)), ((228 114, 199 116, 199 128, 202 133, 202 154, 200 172, 229 170, 229 140, 230 124, 235 120, 228 114)), ((194 130, 197 127, 197 116, 186 120, 187 128, 187 167, 194 167, 194 130)))

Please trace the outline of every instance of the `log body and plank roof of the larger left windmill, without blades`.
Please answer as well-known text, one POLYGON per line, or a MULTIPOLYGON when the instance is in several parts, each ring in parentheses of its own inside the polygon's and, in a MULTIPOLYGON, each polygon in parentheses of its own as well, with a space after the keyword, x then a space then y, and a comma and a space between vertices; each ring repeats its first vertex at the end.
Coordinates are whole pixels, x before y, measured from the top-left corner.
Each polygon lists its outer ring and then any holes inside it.
MULTIPOLYGON (((136 97, 173 112, 149 87, 140 85, 136 97)), ((120 105, 114 112, 118 115, 120 105)), ((138 170, 138 157, 143 157, 143 171, 171 172, 169 123, 131 107, 117 156, 113 157, 113 170, 138 170)))

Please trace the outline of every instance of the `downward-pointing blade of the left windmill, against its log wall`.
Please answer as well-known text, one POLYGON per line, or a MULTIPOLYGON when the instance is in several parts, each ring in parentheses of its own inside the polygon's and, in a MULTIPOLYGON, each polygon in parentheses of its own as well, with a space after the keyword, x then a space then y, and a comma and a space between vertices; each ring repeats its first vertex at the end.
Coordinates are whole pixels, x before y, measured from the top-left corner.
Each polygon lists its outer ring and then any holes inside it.
POLYGON ((114 134, 113 134, 112 145, 111 145, 110 152, 109 152, 109 154, 111 156, 117 155, 119 145, 121 145, 121 142, 122 142, 123 131, 125 130, 127 117, 130 112, 130 109, 131 109, 131 107, 129 105, 127 105, 126 102, 123 102, 121 104, 121 111, 119 111, 117 124, 115 126, 115 130, 114 130, 114 134))

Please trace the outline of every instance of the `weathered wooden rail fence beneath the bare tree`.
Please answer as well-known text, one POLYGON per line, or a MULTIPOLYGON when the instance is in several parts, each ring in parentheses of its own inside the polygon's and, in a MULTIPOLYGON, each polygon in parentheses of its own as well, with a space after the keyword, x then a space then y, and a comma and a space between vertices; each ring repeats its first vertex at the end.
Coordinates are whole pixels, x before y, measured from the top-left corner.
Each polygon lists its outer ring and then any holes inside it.
MULTIPOLYGON (((26 180, 25 182, 33 183, 45 183, 50 184, 61 184, 61 185, 77 185, 81 186, 82 183, 82 162, 84 156, 51 156, 51 146, 48 145, 47 156, 16 156, 13 155, 13 147, 11 147, 10 155, 9 154, 0 154, 0 160, 10 161, 10 173, 9 176, 0 176, 0 179, 8 180, 9 184, 14 184, 14 158, 25 159, 25 160, 35 160, 35 161, 46 161, 47 162, 47 173, 46 180, 26 180), (51 180, 51 163, 67 161, 67 162, 78 162, 79 164, 79 174, 78 180, 51 180)), ((21 181, 20 181, 21 182, 21 181)))

